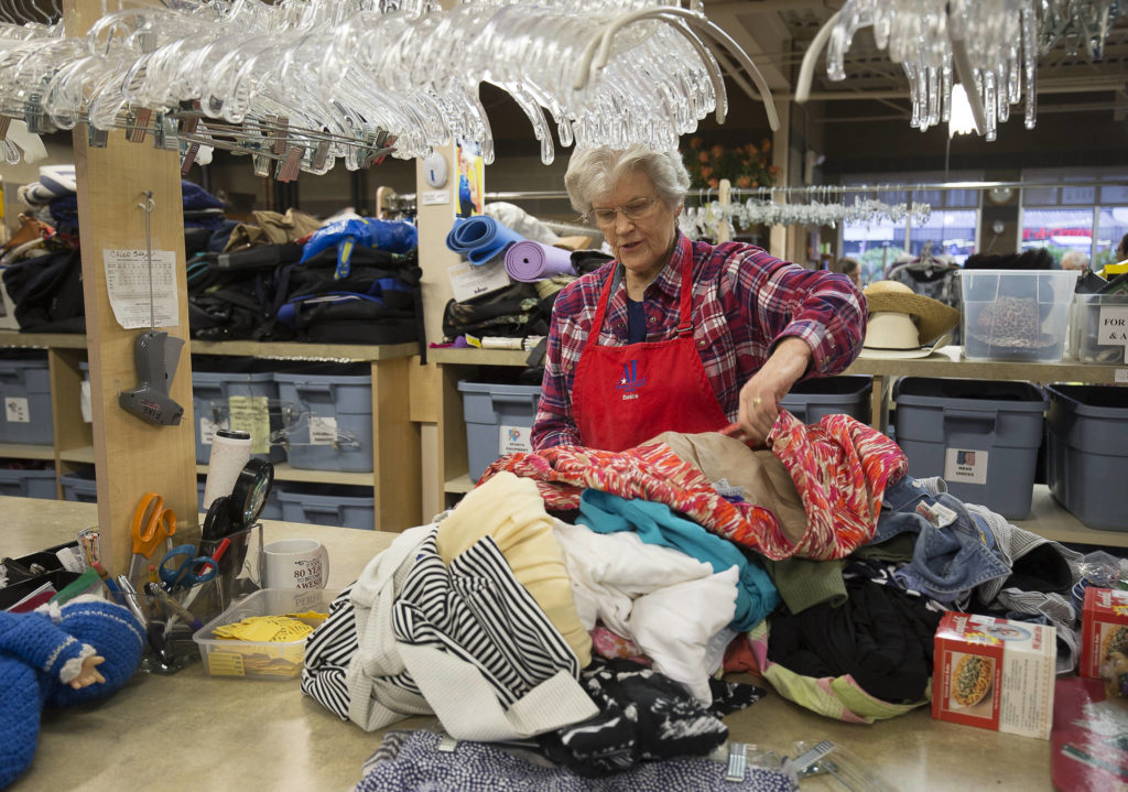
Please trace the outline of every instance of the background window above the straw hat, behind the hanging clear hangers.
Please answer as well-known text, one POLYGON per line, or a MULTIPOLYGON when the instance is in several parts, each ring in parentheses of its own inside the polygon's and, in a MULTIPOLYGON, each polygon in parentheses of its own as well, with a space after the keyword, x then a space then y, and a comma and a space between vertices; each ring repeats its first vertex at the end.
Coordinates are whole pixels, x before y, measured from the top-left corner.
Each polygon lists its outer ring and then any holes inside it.
POLYGON ((910 205, 915 201, 928 204, 932 212, 924 223, 915 220, 911 213, 897 222, 881 217, 844 223, 841 255, 862 263, 863 284, 881 280, 895 263, 918 258, 926 249, 934 256, 948 256, 962 264, 978 245, 978 190, 882 190, 880 185, 928 185, 981 178, 981 174, 967 171, 949 174, 946 179, 943 173, 867 174, 844 178, 844 185, 875 185, 873 193, 847 193, 847 202, 854 196, 888 205, 910 205))

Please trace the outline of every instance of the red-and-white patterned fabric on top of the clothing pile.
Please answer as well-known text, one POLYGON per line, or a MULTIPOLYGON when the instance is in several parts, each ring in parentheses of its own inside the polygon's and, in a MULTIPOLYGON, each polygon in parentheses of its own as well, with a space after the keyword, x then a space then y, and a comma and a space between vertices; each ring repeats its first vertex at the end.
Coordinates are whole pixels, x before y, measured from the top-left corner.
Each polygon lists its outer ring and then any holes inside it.
POLYGON ((589 487, 656 501, 768 558, 826 560, 848 555, 873 537, 887 483, 908 468, 892 440, 848 415, 828 415, 804 426, 781 410, 768 442, 803 499, 808 530, 799 543, 787 538, 767 509, 719 495, 699 469, 666 443, 618 452, 556 446, 511 454, 486 468, 478 483, 502 470, 532 478, 549 510, 579 509, 589 487))

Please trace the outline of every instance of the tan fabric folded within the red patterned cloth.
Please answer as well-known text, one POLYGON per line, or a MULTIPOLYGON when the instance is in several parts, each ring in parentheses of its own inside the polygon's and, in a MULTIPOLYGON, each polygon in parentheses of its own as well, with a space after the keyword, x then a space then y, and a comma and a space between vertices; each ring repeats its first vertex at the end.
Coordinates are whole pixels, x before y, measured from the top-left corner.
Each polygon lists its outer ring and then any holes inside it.
POLYGON ((772 451, 754 451, 740 440, 717 432, 662 432, 647 442, 655 441, 669 446, 679 459, 711 482, 726 478, 732 486, 742 487, 744 500, 775 514, 779 529, 793 543, 807 534, 807 512, 795 482, 772 451))

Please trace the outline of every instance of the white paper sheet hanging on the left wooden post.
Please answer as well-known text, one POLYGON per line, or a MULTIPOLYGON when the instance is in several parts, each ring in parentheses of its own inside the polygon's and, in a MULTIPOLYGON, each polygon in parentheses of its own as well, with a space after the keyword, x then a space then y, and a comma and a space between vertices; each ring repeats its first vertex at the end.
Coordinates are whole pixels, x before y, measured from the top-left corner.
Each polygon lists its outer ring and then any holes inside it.
POLYGON ((150 322, 153 327, 180 324, 175 253, 153 250, 151 275, 147 250, 103 250, 102 257, 109 307, 117 324, 125 329, 149 327, 150 322))

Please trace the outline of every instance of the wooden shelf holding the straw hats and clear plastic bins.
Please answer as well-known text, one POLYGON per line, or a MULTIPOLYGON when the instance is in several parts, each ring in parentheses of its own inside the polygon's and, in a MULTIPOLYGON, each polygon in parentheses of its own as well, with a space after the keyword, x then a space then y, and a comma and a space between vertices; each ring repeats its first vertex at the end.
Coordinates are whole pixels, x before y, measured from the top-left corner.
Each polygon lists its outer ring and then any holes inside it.
POLYGON ((875 377, 963 377, 968 379, 1030 380, 1033 382, 1117 382, 1128 381, 1128 366, 1102 363, 1017 363, 1010 361, 964 360, 960 346, 945 346, 928 358, 916 360, 870 360, 858 358, 847 375, 875 377), (1118 380, 1118 372, 1120 379, 1118 380))

